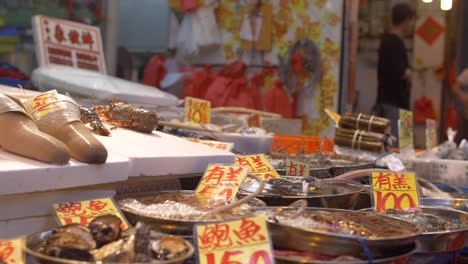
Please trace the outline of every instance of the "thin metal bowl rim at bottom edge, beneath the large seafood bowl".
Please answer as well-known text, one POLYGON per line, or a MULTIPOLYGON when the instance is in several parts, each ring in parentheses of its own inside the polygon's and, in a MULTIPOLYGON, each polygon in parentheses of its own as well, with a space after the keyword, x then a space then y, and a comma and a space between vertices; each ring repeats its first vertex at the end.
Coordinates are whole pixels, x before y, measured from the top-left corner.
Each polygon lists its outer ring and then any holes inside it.
MULTIPOLYGON (((412 249, 408 249, 407 251, 403 252, 393 252, 395 256, 387 257, 387 258, 380 258, 380 259, 373 259, 372 263, 376 264, 403 264, 409 263, 411 255, 413 255, 417 250, 416 243, 414 244, 412 249)), ((368 260, 362 261, 325 261, 325 260, 311 260, 307 257, 301 256, 275 256, 275 260, 277 264, 315 264, 315 263, 323 263, 323 264, 368 264, 368 260)))

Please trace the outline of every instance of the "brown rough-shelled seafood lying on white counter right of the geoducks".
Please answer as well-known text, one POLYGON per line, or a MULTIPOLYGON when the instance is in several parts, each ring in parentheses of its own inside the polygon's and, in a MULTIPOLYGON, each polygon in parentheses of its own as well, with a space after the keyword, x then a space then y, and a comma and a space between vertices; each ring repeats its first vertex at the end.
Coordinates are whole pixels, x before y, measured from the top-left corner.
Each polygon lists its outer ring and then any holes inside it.
POLYGON ((101 120, 112 124, 115 128, 129 128, 143 133, 153 132, 159 122, 155 112, 131 106, 117 99, 106 105, 95 106, 93 111, 101 120))

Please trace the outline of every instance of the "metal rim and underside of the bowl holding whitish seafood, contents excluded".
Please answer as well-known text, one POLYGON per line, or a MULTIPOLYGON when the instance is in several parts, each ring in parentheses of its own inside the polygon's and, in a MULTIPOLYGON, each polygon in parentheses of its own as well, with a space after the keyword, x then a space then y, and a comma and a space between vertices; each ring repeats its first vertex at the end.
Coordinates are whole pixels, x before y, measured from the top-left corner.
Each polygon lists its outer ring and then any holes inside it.
MULTIPOLYGON (((138 193, 138 194, 130 194, 126 196, 119 196, 116 198, 117 203, 120 203, 125 198, 134 198, 137 200, 140 199, 152 199, 159 195, 188 195, 194 196, 194 191, 163 191, 157 193, 138 193)), ((254 199, 249 202, 249 205, 254 207, 263 207, 265 203, 261 200, 254 199)), ((233 216, 222 220, 195 220, 195 219, 187 219, 187 220, 177 220, 177 219, 169 219, 163 217, 155 217, 153 215, 146 214, 144 212, 138 212, 135 210, 131 210, 125 207, 120 206, 121 211, 125 214, 127 219, 129 220, 130 224, 134 225, 137 222, 143 222, 145 224, 150 225, 152 228, 159 230, 163 233, 169 234, 176 234, 182 236, 192 236, 193 235, 193 227, 198 223, 214 223, 219 221, 226 221, 226 220, 238 220, 242 219, 246 216, 249 216, 251 213, 246 213, 239 216, 233 216)))

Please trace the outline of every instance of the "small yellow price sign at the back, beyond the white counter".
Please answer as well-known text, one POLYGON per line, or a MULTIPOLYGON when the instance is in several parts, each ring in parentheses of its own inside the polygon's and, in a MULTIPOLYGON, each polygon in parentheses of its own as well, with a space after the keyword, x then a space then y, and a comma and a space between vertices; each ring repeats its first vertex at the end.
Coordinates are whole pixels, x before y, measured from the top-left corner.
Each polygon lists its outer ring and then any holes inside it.
POLYGON ((193 97, 185 97, 185 122, 209 124, 211 122, 211 102, 193 97))

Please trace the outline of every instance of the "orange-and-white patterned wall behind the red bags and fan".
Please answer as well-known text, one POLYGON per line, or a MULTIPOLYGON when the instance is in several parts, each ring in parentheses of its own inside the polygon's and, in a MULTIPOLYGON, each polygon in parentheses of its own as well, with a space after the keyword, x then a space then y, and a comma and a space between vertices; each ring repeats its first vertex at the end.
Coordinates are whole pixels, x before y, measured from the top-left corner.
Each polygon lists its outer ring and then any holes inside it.
MULTIPOLYGON (((242 59, 247 65, 262 65, 265 61, 278 64, 278 55, 284 55, 300 38, 309 38, 319 47, 322 58, 322 79, 314 92, 302 96, 299 114, 307 114, 309 122, 304 133, 309 135, 331 135, 333 127, 323 112, 329 108, 337 110, 340 82, 342 41, 342 0, 266 0, 272 5, 271 49, 251 52, 240 49, 241 28, 245 6, 250 0, 221 0, 217 9, 223 44, 217 48, 201 50, 193 58, 197 64, 225 64, 242 59)), ((307 81, 307 80, 305 80, 307 81)))

